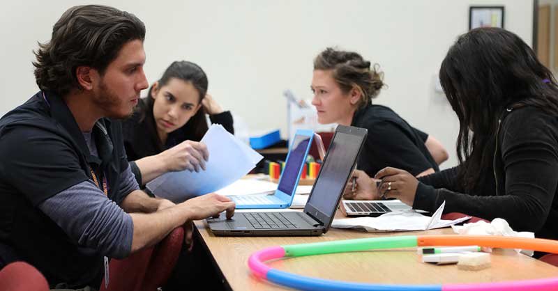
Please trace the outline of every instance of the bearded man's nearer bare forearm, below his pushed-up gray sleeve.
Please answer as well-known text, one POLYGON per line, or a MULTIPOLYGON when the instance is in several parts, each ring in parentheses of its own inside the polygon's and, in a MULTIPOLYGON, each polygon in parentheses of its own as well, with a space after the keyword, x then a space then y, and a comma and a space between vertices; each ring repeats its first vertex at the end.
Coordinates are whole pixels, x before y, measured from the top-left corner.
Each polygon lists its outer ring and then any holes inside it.
POLYGON ((132 252, 153 246, 165 238, 174 228, 190 220, 190 211, 184 205, 176 205, 155 213, 132 213, 134 235, 132 252))

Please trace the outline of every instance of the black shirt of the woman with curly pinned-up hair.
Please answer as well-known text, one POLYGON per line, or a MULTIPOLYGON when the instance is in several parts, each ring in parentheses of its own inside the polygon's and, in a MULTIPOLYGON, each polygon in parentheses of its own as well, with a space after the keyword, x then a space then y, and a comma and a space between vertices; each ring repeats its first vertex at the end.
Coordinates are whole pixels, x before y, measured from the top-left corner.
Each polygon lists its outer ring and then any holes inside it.
POLYGON ((382 105, 368 105, 354 113, 352 126, 368 129, 368 138, 356 164, 370 177, 386 166, 418 175, 438 165, 428 152, 428 134, 412 127, 397 113, 382 105))

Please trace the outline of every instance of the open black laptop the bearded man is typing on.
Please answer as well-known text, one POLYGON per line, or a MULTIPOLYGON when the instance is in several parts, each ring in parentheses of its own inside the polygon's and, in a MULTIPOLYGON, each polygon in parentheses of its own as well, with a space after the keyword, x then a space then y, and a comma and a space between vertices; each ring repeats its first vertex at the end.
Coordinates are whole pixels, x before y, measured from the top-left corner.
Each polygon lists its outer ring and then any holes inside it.
POLYGON ((338 125, 303 212, 237 212, 206 219, 218 236, 322 235, 329 230, 367 130, 338 125))

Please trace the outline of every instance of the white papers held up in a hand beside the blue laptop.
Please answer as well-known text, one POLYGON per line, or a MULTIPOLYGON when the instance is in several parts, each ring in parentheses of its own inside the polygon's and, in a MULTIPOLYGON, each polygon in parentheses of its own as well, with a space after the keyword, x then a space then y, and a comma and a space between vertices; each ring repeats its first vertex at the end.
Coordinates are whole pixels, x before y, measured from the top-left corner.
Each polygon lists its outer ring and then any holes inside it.
POLYGON ((178 203, 222 189, 250 172, 263 158, 222 125, 211 125, 202 142, 209 151, 205 171, 165 173, 146 187, 156 196, 178 203))

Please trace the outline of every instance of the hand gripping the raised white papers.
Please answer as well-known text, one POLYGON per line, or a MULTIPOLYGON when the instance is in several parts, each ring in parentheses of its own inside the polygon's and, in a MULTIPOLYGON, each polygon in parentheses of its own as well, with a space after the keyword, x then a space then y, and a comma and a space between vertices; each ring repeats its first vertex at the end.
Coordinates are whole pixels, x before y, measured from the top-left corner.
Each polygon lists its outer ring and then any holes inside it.
POLYGON ((197 141, 183 141, 178 145, 161 152, 167 171, 199 172, 205 171, 205 162, 209 160, 209 152, 204 143, 197 141))

